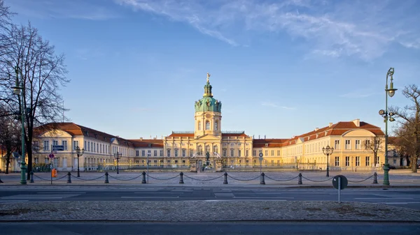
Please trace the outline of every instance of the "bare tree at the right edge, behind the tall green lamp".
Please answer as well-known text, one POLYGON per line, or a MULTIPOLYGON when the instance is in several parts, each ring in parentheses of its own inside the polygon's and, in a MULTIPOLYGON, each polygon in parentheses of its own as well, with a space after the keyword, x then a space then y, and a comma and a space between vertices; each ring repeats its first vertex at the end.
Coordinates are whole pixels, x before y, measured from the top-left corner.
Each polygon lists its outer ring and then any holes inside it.
POLYGON ((411 104, 403 109, 391 107, 390 112, 399 118, 395 133, 402 139, 404 149, 409 152, 412 172, 417 172, 417 160, 420 156, 420 89, 415 84, 405 86, 402 95, 411 104))

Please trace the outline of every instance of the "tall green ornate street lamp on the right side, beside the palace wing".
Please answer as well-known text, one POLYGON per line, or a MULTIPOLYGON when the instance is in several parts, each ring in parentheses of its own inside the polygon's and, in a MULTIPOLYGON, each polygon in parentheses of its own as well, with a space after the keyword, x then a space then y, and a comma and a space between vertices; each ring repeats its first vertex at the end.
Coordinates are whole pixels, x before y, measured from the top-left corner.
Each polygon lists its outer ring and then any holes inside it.
POLYGON ((395 91, 397 89, 393 88, 393 73, 394 73, 394 69, 393 68, 389 68, 388 73, 386 73, 386 85, 385 85, 385 110, 381 109, 379 110, 379 115, 384 117, 384 122, 385 122, 385 165, 384 165, 384 185, 389 185, 389 164, 388 164, 388 116, 389 116, 389 121, 395 121, 395 119, 393 119, 393 113, 390 112, 388 113, 388 96, 389 97, 393 97, 393 95, 395 94, 395 91), (391 77, 391 84, 390 84, 390 88, 388 89, 388 76, 391 77))

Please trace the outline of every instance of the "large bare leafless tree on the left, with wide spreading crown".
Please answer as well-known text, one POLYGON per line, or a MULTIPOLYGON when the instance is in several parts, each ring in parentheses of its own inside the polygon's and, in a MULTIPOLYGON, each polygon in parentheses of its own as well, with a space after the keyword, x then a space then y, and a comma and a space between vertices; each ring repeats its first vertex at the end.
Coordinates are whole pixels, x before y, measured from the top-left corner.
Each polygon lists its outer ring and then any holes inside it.
POLYGON ((0 98, 10 107, 14 107, 15 112, 19 110, 20 105, 25 110, 29 179, 34 127, 62 119, 65 109, 62 106, 59 88, 70 81, 66 79, 64 55, 57 56, 55 48, 48 40, 39 36, 37 29, 30 23, 27 26, 11 26, 9 33, 10 46, 2 48, 3 51, 0 52, 0 76, 8 77, 0 83, 0 98), (10 76, 15 73, 15 68, 19 68, 18 77, 25 88, 21 94, 22 103, 10 89, 15 86, 15 77, 10 76))

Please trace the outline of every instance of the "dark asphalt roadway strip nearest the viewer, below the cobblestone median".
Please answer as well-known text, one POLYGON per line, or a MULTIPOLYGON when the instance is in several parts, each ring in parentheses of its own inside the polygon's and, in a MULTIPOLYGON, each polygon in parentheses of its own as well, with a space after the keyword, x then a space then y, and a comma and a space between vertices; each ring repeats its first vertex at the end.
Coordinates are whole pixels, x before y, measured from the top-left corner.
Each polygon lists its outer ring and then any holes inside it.
POLYGON ((369 222, 8 222, 2 234, 420 234, 419 223, 369 222))

